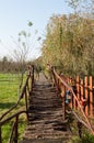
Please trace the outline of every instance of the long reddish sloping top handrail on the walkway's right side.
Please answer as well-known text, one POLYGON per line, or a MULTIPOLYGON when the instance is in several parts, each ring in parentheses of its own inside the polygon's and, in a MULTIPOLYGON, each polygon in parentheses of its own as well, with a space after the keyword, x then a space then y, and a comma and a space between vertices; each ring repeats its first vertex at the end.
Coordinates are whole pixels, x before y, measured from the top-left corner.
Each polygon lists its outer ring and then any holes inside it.
MULTIPOLYGON (((80 108, 80 110, 81 110, 81 112, 82 112, 82 114, 83 114, 83 117, 84 117, 84 119, 85 119, 87 125, 85 125, 85 123, 83 123, 82 120, 80 120, 80 122, 82 122, 82 124, 84 124, 86 128, 89 128, 90 131, 92 132, 92 134, 94 134, 94 130, 93 130, 93 128, 92 128, 92 125, 91 125, 91 123, 90 123, 87 117, 85 116, 85 113, 84 113, 84 111, 83 111, 83 108, 82 108, 82 106, 81 106, 81 103, 80 103, 78 97, 75 96, 75 94, 74 94, 72 87, 69 86, 69 85, 57 74, 57 72, 55 70, 54 67, 51 68, 51 70, 52 70, 52 73, 55 74, 55 76, 61 81, 61 84, 63 84, 63 86, 64 86, 68 90, 70 90, 71 94, 73 95, 73 97, 74 97, 75 101, 78 102, 78 106, 79 106, 79 108, 80 108)), ((74 112, 73 112, 73 114, 75 116, 74 112)), ((77 116, 75 116, 75 117, 77 117, 77 116)), ((78 119, 79 119, 79 118, 78 118, 78 119)))

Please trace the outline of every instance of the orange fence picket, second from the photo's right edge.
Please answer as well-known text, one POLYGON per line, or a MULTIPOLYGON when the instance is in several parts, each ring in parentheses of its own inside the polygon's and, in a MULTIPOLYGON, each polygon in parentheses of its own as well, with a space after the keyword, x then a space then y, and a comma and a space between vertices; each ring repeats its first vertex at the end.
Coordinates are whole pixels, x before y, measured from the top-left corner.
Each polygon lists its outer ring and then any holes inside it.
MULTIPOLYGON (((85 76, 85 99, 87 100, 89 99, 89 90, 87 90, 87 76, 85 76)), ((89 102, 89 101, 87 101, 89 102)), ((85 114, 89 116, 89 103, 86 102, 86 106, 85 106, 85 114)))

